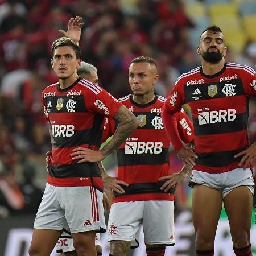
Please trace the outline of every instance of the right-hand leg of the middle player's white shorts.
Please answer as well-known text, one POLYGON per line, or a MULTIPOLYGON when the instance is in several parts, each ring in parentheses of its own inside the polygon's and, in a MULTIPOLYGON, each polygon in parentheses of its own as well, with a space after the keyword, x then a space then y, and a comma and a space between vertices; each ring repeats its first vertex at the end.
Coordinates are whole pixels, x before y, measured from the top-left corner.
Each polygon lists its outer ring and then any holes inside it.
POLYGON ((142 223, 147 245, 174 245, 174 201, 146 201, 142 223))

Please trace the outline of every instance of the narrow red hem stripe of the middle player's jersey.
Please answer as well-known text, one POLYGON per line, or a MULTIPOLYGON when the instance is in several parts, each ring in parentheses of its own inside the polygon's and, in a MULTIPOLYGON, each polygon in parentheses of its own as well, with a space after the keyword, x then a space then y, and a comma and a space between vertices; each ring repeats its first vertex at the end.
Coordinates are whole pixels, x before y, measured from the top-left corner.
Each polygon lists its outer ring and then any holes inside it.
POLYGON ((113 199, 113 203, 127 202, 127 201, 147 201, 147 200, 174 201, 174 194, 146 193, 146 194, 118 196, 113 199))

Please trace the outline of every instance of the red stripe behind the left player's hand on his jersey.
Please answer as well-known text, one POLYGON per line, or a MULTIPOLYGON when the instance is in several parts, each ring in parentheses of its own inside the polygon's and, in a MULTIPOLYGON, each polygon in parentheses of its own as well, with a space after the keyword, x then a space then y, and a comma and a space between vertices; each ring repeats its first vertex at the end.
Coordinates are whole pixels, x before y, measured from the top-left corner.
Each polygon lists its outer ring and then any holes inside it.
MULTIPOLYGON (((65 164, 72 164, 74 160, 72 160, 71 153, 73 152, 74 148, 77 147, 84 147, 88 148, 88 144, 82 144, 75 147, 56 147, 52 148, 52 155, 51 155, 51 164, 53 166, 63 166, 65 164)), ((99 148, 97 146, 90 145, 90 149, 92 150, 98 150, 99 148)), ((77 160, 75 160, 76 162, 77 160)))

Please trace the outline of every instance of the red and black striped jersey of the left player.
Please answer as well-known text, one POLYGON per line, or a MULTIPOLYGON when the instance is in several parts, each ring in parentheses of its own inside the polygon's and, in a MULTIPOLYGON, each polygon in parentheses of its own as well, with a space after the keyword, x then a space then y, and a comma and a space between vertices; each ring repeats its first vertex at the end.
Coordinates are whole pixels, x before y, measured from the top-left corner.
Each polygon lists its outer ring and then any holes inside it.
POLYGON ((61 89, 59 83, 43 90, 44 114, 49 122, 52 154, 47 182, 56 186, 92 185, 102 189, 96 163, 77 163, 71 153, 76 147, 98 150, 104 117, 113 115, 122 105, 106 90, 79 78, 61 89))

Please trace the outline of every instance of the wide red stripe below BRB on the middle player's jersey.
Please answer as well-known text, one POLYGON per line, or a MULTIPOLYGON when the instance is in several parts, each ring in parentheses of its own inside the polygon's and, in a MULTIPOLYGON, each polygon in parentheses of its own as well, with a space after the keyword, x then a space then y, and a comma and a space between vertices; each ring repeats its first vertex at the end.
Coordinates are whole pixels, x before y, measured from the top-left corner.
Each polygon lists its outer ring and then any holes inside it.
POLYGON ((159 177, 169 174, 169 164, 161 165, 134 165, 119 166, 118 180, 124 180, 128 184, 158 182, 159 177), (129 170, 129 171, 128 171, 129 170))

